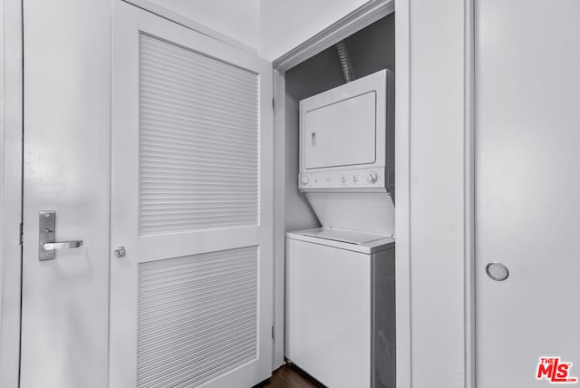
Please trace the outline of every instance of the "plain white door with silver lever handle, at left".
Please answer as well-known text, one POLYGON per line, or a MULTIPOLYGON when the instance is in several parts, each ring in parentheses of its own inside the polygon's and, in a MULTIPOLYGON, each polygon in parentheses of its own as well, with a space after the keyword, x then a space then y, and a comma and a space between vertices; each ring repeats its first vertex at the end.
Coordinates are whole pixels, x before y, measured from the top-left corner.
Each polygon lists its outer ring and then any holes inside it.
POLYGON ((24 1, 22 388, 108 382, 111 5, 24 1), (39 212, 57 240, 39 260, 39 212))

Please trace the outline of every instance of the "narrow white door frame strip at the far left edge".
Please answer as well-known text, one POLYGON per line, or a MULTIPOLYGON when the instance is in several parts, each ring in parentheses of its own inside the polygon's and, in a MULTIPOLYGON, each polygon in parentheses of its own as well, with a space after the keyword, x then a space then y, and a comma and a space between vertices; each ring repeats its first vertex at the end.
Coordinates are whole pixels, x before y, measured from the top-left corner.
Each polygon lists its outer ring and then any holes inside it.
POLYGON ((22 1, 0 2, 0 386, 16 388, 22 276, 22 1))

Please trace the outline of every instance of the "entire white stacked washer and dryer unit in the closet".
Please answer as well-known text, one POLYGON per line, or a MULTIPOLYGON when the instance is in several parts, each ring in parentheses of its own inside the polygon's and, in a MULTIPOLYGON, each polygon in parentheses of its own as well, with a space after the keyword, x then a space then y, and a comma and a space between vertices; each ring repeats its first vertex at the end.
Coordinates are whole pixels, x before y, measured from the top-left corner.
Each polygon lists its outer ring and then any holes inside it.
POLYGON ((332 388, 395 386, 393 89, 385 69, 300 102, 323 227, 286 233, 285 355, 332 388))

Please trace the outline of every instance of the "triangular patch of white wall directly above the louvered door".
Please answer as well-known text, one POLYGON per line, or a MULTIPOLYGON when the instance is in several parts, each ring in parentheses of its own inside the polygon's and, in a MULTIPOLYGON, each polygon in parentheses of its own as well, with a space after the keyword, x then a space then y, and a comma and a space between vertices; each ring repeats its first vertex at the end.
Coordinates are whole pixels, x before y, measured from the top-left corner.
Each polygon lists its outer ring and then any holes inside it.
POLYGON ((151 3, 247 44, 260 47, 259 0, 150 0, 151 3))

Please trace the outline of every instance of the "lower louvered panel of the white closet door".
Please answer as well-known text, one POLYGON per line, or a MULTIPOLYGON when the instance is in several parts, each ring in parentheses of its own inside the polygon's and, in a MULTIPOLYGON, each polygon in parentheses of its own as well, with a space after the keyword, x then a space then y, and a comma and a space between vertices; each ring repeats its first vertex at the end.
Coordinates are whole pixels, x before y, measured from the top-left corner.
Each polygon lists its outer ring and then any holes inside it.
POLYGON ((255 360, 257 247, 139 266, 138 386, 198 386, 255 360))

